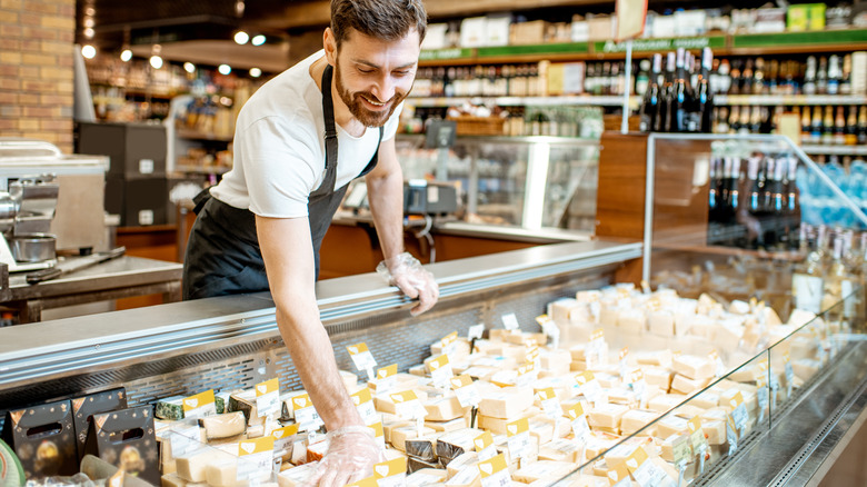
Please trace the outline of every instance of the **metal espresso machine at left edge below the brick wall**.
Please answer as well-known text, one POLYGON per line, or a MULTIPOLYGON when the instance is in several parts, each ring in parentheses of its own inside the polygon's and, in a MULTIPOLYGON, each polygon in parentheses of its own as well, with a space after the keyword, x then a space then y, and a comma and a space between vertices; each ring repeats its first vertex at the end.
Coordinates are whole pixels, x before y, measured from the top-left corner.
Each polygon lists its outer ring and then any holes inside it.
POLYGON ((30 271, 56 266, 58 251, 108 250, 108 168, 106 156, 0 137, 0 262, 10 272, 30 271))

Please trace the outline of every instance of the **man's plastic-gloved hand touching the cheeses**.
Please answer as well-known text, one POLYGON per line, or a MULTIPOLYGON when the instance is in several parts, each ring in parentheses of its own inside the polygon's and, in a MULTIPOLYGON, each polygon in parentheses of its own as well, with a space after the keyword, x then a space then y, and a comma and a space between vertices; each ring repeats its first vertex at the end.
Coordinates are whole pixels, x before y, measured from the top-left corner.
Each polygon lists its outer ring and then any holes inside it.
POLYGON ((306 487, 343 487, 373 475, 373 465, 385 461, 373 430, 367 426, 347 426, 326 436, 328 451, 319 461, 306 487))

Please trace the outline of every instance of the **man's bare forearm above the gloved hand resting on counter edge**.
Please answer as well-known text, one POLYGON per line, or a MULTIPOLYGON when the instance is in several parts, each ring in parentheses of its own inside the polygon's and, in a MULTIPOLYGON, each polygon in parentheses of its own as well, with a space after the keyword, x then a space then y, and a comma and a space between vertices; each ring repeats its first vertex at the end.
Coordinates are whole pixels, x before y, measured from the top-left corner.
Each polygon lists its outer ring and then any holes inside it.
POLYGON ((368 179, 368 201, 386 259, 403 251, 403 176, 368 179))

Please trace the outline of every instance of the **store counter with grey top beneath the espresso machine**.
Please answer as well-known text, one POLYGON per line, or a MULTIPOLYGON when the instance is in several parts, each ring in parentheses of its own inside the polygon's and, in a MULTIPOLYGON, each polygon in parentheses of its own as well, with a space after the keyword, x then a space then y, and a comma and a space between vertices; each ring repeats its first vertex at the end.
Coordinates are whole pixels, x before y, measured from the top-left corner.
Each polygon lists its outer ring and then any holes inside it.
POLYGON ((37 285, 26 274, 9 276, 9 298, 0 304, 19 314, 22 324, 41 321, 42 310, 136 296, 162 295, 180 300, 183 265, 123 256, 37 285))

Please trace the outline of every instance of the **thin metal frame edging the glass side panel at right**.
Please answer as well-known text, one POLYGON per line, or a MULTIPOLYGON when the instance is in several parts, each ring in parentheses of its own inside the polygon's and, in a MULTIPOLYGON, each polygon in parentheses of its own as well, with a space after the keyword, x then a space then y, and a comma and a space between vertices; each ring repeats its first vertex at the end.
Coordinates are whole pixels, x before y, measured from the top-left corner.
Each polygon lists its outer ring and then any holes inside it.
POLYGON ((644 261, 641 276, 646 281, 650 281, 650 265, 652 260, 652 239, 654 239, 654 203, 655 203, 655 175, 656 175, 656 148, 657 141, 718 141, 734 140, 738 142, 755 142, 759 148, 774 147, 778 151, 779 145, 787 147, 797 159, 804 163, 808 170, 815 173, 834 195, 840 199, 865 225, 867 225, 867 215, 856 205, 845 192, 818 167, 813 159, 807 156, 800 147, 796 146, 791 139, 779 135, 706 135, 706 133, 650 133, 647 136, 647 177, 645 179, 645 227, 644 227, 644 261), (774 146, 776 145, 776 146, 774 146))

